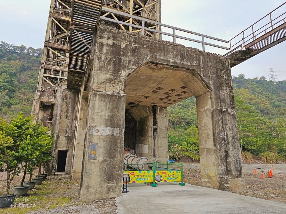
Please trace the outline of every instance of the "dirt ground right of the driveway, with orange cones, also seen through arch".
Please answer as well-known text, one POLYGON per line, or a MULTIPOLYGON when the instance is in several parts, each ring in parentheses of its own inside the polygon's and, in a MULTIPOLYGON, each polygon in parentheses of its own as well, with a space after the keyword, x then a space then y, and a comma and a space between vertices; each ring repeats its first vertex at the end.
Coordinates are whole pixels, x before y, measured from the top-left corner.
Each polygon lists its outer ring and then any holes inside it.
MULTIPOLYGON (((286 164, 274 164, 272 178, 268 178, 267 169, 270 164, 243 164, 243 173, 245 177, 246 190, 241 192, 241 195, 257 197, 270 201, 286 203, 286 164), (254 174, 254 168, 257 168, 257 173, 254 174), (265 179, 261 176, 263 168, 265 179)), ((200 164, 185 163, 183 167, 184 182, 201 186, 200 164)))

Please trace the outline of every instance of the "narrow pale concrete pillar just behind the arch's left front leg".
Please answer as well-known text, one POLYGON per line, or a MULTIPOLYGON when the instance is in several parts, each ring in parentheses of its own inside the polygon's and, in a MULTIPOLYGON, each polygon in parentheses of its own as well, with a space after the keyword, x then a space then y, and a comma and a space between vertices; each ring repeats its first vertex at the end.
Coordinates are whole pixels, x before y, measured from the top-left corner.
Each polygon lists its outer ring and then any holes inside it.
POLYGON ((72 166, 72 179, 80 179, 82 174, 82 158, 84 155, 84 137, 86 134, 86 117, 88 111, 88 99, 81 98, 77 118, 76 136, 74 143, 74 159, 72 166))

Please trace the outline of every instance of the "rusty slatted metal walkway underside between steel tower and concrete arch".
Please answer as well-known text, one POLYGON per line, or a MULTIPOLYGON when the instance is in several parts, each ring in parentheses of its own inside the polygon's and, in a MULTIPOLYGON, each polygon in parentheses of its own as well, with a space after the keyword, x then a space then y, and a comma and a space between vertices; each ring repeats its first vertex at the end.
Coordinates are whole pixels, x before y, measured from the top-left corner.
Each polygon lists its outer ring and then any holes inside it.
POLYGON ((73 0, 72 21, 69 25, 71 40, 67 78, 67 87, 70 89, 79 88, 77 82, 86 71, 102 5, 103 0, 73 0))

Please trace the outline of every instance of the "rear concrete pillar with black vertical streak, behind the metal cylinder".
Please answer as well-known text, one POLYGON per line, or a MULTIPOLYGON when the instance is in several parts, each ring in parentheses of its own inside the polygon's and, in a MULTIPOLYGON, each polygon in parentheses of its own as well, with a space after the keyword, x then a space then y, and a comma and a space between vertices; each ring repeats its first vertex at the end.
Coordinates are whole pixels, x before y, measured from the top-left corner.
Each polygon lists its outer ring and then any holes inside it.
POLYGON ((167 108, 139 106, 130 110, 137 121, 136 155, 154 161, 168 161, 167 108), (143 118, 140 118, 140 116, 143 118))

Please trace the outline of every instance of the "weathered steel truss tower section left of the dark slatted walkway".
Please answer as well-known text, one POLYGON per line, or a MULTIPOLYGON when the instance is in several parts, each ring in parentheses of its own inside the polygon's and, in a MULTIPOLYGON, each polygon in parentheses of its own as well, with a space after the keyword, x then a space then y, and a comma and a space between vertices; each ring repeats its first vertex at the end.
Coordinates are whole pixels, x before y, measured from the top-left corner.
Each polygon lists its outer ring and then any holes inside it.
POLYGON ((56 93, 67 83, 71 21, 71 0, 51 0, 37 92, 56 93))

